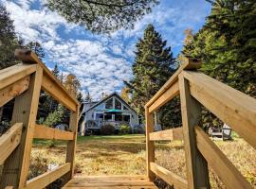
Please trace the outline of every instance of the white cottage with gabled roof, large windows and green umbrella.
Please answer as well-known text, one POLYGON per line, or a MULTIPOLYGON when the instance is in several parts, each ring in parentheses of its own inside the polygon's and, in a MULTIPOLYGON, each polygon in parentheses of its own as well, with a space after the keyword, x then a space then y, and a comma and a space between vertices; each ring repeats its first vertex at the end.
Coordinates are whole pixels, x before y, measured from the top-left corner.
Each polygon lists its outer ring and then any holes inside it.
POLYGON ((106 124, 119 129, 121 125, 128 125, 137 129, 138 115, 117 93, 110 94, 99 102, 84 102, 82 110, 82 125, 80 134, 85 131, 100 131, 106 124))

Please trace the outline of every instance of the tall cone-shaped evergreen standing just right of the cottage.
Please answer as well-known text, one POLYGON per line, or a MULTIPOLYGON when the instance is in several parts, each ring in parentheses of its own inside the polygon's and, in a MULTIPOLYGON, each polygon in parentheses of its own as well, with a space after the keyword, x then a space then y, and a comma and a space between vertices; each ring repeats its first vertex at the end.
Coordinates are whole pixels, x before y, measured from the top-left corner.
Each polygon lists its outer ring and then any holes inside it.
POLYGON ((171 47, 166 47, 161 35, 149 25, 143 39, 137 43, 136 60, 133 64, 134 77, 125 82, 132 94, 132 104, 138 113, 144 114, 144 105, 174 74, 175 61, 171 47))

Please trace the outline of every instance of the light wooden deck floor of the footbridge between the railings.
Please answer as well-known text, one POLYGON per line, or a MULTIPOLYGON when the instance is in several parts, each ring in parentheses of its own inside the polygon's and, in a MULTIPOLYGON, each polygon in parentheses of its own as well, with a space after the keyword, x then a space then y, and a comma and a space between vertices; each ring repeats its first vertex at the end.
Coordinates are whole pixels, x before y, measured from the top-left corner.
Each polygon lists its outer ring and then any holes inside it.
POLYGON ((74 178, 64 186, 64 189, 72 188, 156 189, 157 187, 146 176, 88 176, 74 178))

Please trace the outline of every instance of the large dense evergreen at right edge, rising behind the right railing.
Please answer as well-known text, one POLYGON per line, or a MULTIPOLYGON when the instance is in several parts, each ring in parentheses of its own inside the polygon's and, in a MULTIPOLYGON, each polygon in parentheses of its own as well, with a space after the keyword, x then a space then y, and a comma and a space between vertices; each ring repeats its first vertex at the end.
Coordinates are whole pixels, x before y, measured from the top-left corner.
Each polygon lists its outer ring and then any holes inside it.
POLYGON ((183 52, 204 60, 202 71, 256 97, 256 2, 210 1, 206 25, 183 52))

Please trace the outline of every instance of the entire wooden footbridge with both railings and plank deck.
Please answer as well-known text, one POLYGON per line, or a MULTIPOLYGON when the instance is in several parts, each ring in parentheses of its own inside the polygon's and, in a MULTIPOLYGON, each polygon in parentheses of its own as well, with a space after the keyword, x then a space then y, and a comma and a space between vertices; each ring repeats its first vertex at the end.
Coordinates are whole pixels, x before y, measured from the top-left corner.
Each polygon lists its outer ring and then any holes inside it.
MULTIPOLYGON (((200 62, 186 60, 157 94, 145 105, 147 175, 74 177, 79 103, 30 51, 16 50, 23 63, 0 70, 0 107, 15 98, 12 127, 0 137, 0 188, 40 189, 62 178, 64 188, 150 189, 155 176, 174 188, 210 188, 209 167, 230 189, 252 188, 223 152, 198 127, 205 106, 227 123, 248 144, 256 147, 256 100, 196 71, 200 62), (70 110, 69 130, 35 124, 40 91, 46 91, 70 110), (180 95, 182 128, 154 132, 154 112, 180 95), (65 163, 27 180, 33 138, 66 140, 65 163), (155 141, 184 140, 187 180, 155 163, 155 141)), ((175 160, 174 160, 175 161, 175 160)))

